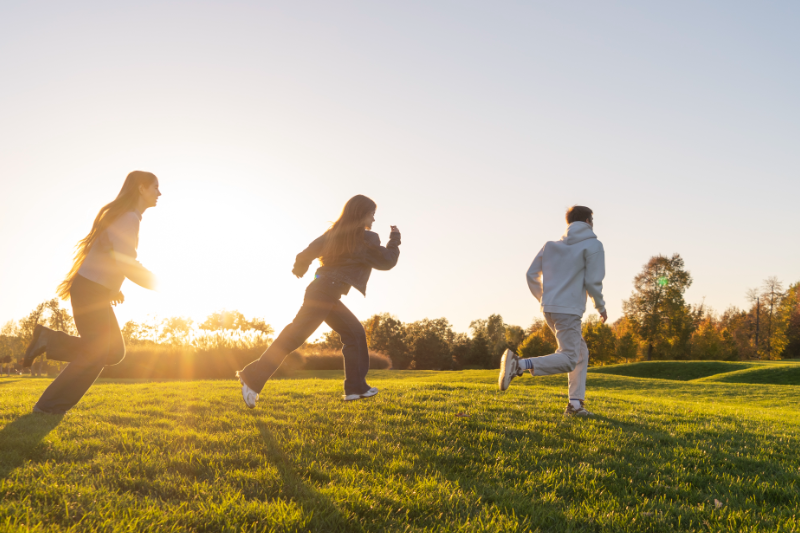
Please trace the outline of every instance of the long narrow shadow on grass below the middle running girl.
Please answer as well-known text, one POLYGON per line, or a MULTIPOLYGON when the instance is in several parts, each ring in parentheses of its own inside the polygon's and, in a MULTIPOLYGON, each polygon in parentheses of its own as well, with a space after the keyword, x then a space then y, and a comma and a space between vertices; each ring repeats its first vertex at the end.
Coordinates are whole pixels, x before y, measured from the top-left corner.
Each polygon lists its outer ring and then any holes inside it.
POLYGON ((309 525, 314 531, 363 531, 360 525, 351 523, 342 516, 330 499, 303 480, 266 423, 259 421, 256 425, 264 439, 269 458, 281 476, 285 496, 296 501, 304 513, 311 516, 309 525))

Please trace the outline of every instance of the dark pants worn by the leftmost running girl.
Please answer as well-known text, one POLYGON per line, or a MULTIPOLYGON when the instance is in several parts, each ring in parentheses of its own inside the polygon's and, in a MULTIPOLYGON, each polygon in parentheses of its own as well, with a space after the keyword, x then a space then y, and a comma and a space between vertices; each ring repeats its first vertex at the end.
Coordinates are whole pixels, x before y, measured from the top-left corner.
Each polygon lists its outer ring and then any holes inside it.
POLYGON ((80 337, 46 330, 47 358, 69 364, 44 391, 36 406, 48 413, 65 413, 75 406, 106 365, 125 357, 125 343, 111 308, 111 291, 78 276, 69 292, 80 337))

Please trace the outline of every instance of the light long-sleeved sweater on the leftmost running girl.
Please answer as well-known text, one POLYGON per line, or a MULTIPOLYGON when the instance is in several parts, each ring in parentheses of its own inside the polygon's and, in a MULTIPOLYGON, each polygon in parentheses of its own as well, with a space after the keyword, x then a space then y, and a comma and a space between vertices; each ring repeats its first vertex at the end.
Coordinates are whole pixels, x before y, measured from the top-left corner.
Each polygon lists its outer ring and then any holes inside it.
POLYGON ((125 278, 146 289, 155 289, 155 276, 136 260, 141 220, 138 211, 128 211, 112 222, 89 248, 78 274, 113 293, 119 292, 125 278))

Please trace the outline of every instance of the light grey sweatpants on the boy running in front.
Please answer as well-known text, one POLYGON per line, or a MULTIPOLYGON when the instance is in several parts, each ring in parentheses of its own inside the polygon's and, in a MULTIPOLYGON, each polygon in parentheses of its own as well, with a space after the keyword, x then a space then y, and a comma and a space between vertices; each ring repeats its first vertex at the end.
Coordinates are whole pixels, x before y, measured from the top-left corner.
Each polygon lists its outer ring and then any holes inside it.
POLYGON ((545 313, 544 319, 556 336, 558 350, 550 355, 527 359, 533 363, 533 375, 569 373, 569 399, 586 399, 589 348, 581 334, 581 317, 564 313, 545 313))

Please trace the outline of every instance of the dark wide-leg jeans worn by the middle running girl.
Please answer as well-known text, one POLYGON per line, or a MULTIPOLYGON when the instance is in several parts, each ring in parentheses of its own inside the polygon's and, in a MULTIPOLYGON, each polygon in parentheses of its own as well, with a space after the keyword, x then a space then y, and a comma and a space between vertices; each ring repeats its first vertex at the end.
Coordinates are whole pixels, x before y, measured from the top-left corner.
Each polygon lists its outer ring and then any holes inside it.
POLYGON ((302 344, 325 322, 342 339, 344 355, 344 392, 363 394, 369 390, 366 377, 369 371, 367 335, 361 322, 345 307, 340 298, 347 285, 326 278, 317 278, 306 289, 303 306, 291 324, 281 331, 267 351, 244 370, 239 377, 248 387, 261 392, 264 384, 281 366, 291 352, 302 344))

